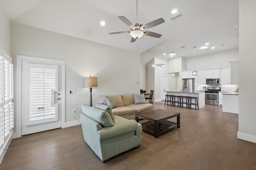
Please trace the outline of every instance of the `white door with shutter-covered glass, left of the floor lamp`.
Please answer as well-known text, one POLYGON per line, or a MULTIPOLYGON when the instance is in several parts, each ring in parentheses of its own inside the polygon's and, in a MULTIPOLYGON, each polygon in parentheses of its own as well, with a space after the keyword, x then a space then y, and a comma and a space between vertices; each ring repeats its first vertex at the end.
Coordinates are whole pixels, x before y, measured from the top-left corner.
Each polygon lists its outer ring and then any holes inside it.
POLYGON ((61 127, 60 66, 22 61, 22 135, 61 127))

